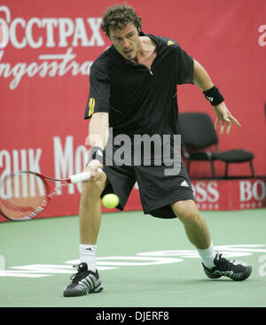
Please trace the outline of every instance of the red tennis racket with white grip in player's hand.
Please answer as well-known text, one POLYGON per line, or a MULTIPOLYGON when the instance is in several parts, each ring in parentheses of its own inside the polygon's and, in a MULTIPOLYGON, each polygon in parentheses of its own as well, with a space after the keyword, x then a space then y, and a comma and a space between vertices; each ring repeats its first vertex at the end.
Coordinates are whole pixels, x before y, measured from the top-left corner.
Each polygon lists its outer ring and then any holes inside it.
POLYGON ((0 182, 0 213, 11 221, 27 221, 47 207, 57 191, 69 183, 90 179, 90 172, 74 174, 66 179, 57 179, 43 174, 20 171, 5 176, 0 182), (47 182, 57 182, 53 190, 47 182))

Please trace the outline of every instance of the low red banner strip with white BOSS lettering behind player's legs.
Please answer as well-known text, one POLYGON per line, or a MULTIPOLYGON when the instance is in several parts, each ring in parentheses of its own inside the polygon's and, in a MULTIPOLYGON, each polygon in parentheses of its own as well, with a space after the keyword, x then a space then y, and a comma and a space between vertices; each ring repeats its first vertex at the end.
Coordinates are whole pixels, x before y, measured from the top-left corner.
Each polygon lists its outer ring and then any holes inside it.
MULTIPOLYGON (((195 202, 200 211, 228 211, 266 207, 266 178, 237 180, 193 180, 195 202)), ((36 218, 77 215, 80 198, 80 184, 71 184, 58 192, 49 207, 36 218)), ((103 213, 117 212, 117 209, 102 207, 103 213)), ((137 183, 133 188, 124 211, 141 211, 137 183)), ((0 221, 6 221, 0 216, 0 221)))

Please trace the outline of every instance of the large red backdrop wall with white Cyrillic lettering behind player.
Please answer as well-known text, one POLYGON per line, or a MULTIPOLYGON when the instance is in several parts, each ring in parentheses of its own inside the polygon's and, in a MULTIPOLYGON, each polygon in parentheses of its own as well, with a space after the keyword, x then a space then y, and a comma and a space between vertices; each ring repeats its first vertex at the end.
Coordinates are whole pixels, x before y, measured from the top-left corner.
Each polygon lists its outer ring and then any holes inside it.
MULTIPOLYGON (((111 44, 100 29, 110 4, 107 0, 1 1, 0 180, 17 170, 56 178, 82 172, 88 154, 88 120, 83 120, 83 114, 90 66, 111 44)), ((266 2, 167 0, 162 5, 160 0, 153 4, 129 0, 128 4, 142 17, 145 33, 175 39, 207 69, 242 125, 232 127, 231 135, 218 135, 220 150, 254 152, 255 174, 266 175, 266 2)), ((208 112, 215 120, 211 105, 196 86, 180 86, 178 102, 180 112, 208 112)), ((215 162, 218 175, 223 168, 215 162)), ((231 166, 230 173, 249 174, 249 166, 231 166)), ((207 163, 192 164, 191 176, 209 176, 207 163)), ((223 188, 221 193, 229 191, 227 182, 217 184, 223 188)), ((259 189, 259 184, 253 186, 259 189)), ((204 187, 214 195, 215 186, 195 184, 200 208, 205 204, 200 202, 204 187)), ((249 185, 242 186, 247 196, 249 185)), ((127 207, 132 210, 139 208, 138 191, 134 193, 127 207)), ((43 216, 76 214, 79 197, 79 185, 69 186, 43 216)))

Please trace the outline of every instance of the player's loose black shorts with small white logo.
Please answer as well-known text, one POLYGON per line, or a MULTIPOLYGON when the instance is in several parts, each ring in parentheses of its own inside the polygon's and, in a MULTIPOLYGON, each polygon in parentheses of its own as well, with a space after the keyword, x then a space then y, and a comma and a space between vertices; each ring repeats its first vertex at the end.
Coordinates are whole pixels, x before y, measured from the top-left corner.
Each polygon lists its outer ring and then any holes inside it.
POLYGON ((107 182, 101 197, 115 193, 120 198, 117 208, 123 210, 137 182, 145 214, 163 219, 176 218, 170 205, 176 201, 194 200, 192 183, 183 162, 177 175, 165 175, 165 168, 166 166, 105 166, 107 182))

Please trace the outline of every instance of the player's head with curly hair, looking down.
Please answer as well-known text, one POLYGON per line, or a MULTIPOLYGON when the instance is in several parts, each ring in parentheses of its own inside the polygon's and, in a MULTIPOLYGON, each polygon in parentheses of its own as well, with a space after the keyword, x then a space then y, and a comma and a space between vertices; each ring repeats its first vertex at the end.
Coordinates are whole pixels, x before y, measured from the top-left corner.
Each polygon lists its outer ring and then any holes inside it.
POLYGON ((123 58, 134 59, 137 55, 138 33, 142 21, 129 5, 116 4, 104 13, 102 30, 110 37, 113 46, 123 58))

